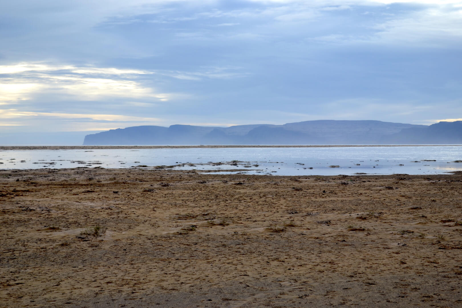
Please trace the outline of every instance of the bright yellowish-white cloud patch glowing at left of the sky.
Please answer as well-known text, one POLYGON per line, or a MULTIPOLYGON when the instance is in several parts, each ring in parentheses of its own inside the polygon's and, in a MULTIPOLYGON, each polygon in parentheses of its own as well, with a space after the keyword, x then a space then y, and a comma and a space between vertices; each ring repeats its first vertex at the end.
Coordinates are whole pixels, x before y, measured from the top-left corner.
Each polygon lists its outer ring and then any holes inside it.
MULTIPOLYGON (((145 71, 115 67, 91 67, 50 65, 43 63, 19 63, 0 66, 0 104, 13 104, 31 100, 36 95, 72 97, 78 101, 93 101, 108 98, 154 99, 166 102, 172 98, 191 97, 183 93, 162 93, 146 86, 139 77, 156 75, 199 81, 202 79, 231 79, 247 76, 235 66, 206 66, 197 72, 145 71)), ((151 102, 150 102, 151 103, 151 102)))

